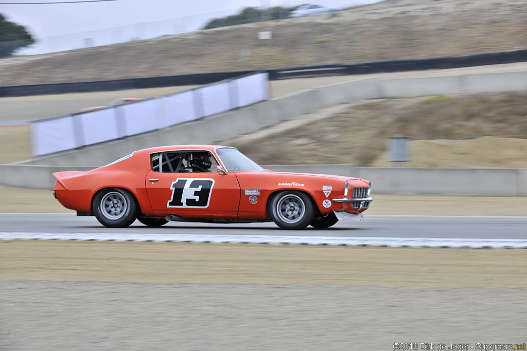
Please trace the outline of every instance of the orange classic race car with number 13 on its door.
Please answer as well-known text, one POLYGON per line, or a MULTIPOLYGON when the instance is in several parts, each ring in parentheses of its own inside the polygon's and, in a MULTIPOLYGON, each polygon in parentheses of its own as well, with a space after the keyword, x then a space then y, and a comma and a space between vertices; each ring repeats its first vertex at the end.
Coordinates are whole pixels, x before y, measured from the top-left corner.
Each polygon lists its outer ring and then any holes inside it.
POLYGON ((138 219, 148 226, 272 220, 283 229, 327 228, 362 220, 373 200, 368 180, 269 171, 226 146, 154 147, 91 171, 53 175, 63 206, 107 227, 138 219))

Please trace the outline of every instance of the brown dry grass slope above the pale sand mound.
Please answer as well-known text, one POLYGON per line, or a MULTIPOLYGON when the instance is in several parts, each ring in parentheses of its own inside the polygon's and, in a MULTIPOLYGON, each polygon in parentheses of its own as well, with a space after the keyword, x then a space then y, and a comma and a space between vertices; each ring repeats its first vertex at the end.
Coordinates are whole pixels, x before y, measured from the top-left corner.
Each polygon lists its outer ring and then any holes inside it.
MULTIPOLYGON (((385 151, 386 137, 396 134, 414 140, 464 140, 482 136, 525 138, 525 101, 527 93, 372 101, 351 106, 342 113, 302 128, 233 146, 242 149, 259 164, 368 166, 385 151)), ((521 151, 519 157, 527 160, 527 153, 521 151)), ((456 164, 452 159, 451 166, 466 165, 465 162, 456 164)))

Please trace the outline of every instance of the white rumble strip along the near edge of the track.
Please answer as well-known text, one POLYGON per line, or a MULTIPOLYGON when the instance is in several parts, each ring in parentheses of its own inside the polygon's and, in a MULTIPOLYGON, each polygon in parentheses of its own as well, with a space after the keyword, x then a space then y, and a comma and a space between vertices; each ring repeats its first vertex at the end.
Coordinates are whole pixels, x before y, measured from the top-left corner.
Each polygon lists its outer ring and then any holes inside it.
POLYGON ((527 248, 525 239, 379 238, 345 236, 194 235, 134 233, 0 233, 0 240, 94 240, 155 243, 386 246, 441 248, 527 248))

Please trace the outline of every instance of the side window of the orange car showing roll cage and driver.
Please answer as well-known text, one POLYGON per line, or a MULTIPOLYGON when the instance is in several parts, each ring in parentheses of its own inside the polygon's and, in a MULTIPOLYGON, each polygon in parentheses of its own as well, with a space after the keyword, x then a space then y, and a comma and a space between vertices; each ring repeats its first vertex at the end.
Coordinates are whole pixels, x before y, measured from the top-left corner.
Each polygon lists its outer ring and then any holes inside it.
POLYGON ((159 173, 216 172, 218 162, 208 151, 152 154, 152 171, 159 173))

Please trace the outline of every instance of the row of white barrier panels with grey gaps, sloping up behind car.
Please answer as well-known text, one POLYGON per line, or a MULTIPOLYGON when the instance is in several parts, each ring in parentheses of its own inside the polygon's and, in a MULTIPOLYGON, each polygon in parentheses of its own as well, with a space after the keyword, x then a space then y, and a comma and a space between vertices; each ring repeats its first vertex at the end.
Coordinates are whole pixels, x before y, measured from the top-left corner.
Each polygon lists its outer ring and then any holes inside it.
POLYGON ((267 82, 267 73, 257 73, 129 105, 38 121, 32 125, 33 155, 147 133, 264 101, 267 82))

